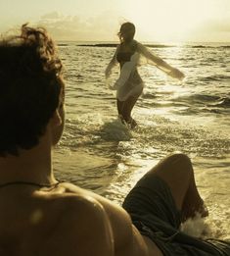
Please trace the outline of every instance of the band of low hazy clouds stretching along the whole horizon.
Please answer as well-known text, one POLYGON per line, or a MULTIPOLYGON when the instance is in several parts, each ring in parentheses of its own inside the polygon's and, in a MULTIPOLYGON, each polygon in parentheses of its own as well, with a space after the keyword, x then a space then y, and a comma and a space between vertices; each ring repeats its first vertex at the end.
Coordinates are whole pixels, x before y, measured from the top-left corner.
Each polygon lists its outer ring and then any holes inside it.
MULTIPOLYGON (((212 19, 212 18, 211 18, 212 19)), ((26 19, 17 22, 18 26, 29 22, 33 26, 45 26, 51 33, 55 40, 74 40, 74 41, 115 41, 117 40, 116 33, 119 26, 125 22, 126 19, 118 16, 110 11, 104 11, 101 14, 81 16, 81 15, 63 15, 59 12, 50 12, 42 15, 40 18, 33 17, 33 19, 26 19)), ((135 23, 135 21, 133 21, 135 23)), ((11 27, 16 27, 13 21, 7 21, 0 24, 0 31, 9 30, 11 27), (5 27, 5 28, 4 28, 5 27)), ((163 32, 169 40, 175 40, 180 37, 174 31, 162 29, 154 31, 153 27, 149 25, 140 26, 136 23, 137 34, 136 38, 139 40, 163 40, 163 32), (152 30, 151 30, 151 29, 152 30), (171 34, 170 34, 171 33, 171 34), (154 39, 153 39, 154 36, 154 39), (162 37, 161 37, 162 36, 162 37), (175 38, 174 38, 174 37, 175 38)), ((156 26, 156 25, 154 25, 156 26)), ((161 26, 163 26, 161 24, 161 26)), ((200 26, 189 29, 181 33, 181 40, 186 35, 186 40, 190 41, 230 41, 230 20, 219 18, 219 20, 207 20, 201 23, 200 26), (186 34, 188 32, 188 34, 186 34)))

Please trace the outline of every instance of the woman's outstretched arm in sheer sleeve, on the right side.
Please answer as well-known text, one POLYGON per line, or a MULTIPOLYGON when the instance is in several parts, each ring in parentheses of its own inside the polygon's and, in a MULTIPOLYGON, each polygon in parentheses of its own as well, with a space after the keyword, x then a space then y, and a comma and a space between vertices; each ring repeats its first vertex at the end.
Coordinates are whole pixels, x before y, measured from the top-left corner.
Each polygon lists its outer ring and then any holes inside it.
POLYGON ((171 67, 165 61, 163 61, 159 56, 153 54, 147 47, 145 47, 143 44, 141 44, 139 42, 138 42, 138 51, 144 57, 146 57, 148 60, 150 60, 151 64, 155 65, 166 75, 173 77, 173 78, 177 78, 177 79, 183 79, 185 77, 182 72, 171 67))

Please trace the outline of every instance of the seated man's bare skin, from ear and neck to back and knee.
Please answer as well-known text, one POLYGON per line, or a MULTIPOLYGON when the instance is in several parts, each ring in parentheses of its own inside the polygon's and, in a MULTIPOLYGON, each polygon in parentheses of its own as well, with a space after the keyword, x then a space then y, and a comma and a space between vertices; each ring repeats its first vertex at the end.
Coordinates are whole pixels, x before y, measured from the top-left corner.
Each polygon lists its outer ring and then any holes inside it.
MULTIPOLYGON (((55 184, 51 152, 62 134, 63 123, 61 108, 36 147, 22 151, 19 157, 0 158, 0 185, 17 180, 55 184)), ((199 209, 201 197, 187 157, 169 157, 149 175, 153 173, 169 184, 179 210, 187 204, 193 206, 187 217, 199 209)), ((42 188, 28 184, 3 186, 0 209, 4 209, 0 211, 1 255, 162 256, 157 245, 136 230, 121 207, 70 183, 42 188)))

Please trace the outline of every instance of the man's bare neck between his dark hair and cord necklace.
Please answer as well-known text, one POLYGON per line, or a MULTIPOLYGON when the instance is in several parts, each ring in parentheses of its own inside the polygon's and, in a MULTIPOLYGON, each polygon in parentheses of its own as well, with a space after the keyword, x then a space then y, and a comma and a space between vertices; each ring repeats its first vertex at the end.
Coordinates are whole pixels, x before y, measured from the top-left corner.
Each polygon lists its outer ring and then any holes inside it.
POLYGON ((0 157, 0 184, 14 181, 54 183, 52 152, 49 143, 41 140, 34 148, 20 150, 19 156, 0 157))

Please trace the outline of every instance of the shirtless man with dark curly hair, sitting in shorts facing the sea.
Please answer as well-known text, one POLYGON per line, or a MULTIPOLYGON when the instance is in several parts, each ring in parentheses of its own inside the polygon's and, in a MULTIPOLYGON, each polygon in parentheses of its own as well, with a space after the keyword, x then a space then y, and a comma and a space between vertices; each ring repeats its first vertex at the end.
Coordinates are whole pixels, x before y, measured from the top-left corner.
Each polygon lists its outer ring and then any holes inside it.
POLYGON ((230 244, 179 230, 207 209, 189 158, 162 160, 123 207, 55 179, 65 123, 62 62, 44 28, 0 42, 0 255, 230 255, 230 244))

